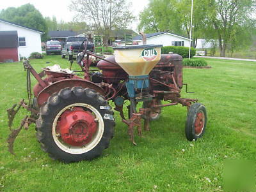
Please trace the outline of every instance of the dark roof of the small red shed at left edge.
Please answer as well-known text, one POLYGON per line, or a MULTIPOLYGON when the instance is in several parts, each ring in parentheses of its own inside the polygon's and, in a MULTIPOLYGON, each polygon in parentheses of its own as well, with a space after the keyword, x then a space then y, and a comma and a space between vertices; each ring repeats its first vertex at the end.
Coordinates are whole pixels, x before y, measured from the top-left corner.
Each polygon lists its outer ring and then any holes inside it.
POLYGON ((17 31, 0 31, 0 48, 18 47, 17 31))

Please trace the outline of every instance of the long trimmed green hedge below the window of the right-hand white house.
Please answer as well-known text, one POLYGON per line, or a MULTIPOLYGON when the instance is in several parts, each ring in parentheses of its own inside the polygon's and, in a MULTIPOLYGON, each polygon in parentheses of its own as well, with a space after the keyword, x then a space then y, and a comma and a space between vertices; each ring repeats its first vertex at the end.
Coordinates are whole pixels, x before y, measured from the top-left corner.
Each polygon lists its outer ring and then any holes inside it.
MULTIPOLYGON (((161 48, 161 54, 168 54, 169 52, 173 52, 173 54, 179 54, 183 58, 188 58, 189 55, 189 47, 184 46, 164 46, 161 48)), ((196 49, 191 47, 190 56, 193 57, 196 54, 196 49)))

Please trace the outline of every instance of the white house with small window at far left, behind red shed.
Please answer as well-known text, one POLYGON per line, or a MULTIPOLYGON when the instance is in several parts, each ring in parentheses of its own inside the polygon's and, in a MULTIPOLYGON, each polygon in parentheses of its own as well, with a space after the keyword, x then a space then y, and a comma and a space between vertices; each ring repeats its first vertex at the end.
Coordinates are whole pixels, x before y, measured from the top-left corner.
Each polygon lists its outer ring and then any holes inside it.
POLYGON ((29 57, 32 52, 42 53, 41 34, 44 33, 43 31, 20 26, 3 19, 0 19, 0 31, 17 31, 19 61, 20 57, 29 57))

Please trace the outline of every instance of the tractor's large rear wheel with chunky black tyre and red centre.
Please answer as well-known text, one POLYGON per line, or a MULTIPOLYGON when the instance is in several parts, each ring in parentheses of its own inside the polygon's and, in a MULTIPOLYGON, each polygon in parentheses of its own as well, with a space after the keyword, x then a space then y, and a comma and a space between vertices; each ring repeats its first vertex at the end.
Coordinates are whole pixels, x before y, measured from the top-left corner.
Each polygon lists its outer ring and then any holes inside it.
POLYGON ((43 151, 65 163, 97 158, 108 148, 115 121, 105 98, 93 89, 61 89, 40 108, 37 137, 43 151))

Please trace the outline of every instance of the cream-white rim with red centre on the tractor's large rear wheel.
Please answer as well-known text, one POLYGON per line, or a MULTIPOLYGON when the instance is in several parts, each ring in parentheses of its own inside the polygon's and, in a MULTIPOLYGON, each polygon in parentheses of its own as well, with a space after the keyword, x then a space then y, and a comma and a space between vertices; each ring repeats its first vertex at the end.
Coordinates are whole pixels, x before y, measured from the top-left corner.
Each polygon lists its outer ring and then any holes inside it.
POLYGON ((104 121, 99 111, 86 103, 73 103, 54 118, 52 137, 61 150, 82 154, 99 144, 104 121))

